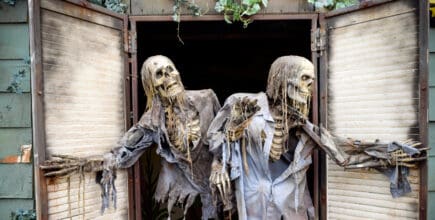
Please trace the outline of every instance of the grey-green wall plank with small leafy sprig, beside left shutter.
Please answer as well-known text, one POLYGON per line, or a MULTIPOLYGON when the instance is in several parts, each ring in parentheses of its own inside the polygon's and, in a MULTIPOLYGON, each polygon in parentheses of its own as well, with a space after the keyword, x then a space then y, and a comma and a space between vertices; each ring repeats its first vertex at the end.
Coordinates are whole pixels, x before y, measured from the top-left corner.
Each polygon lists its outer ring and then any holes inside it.
POLYGON ((11 86, 30 92, 30 66, 24 60, 0 60, 0 92, 7 92, 11 86), (18 83, 17 87, 13 82, 18 83))

